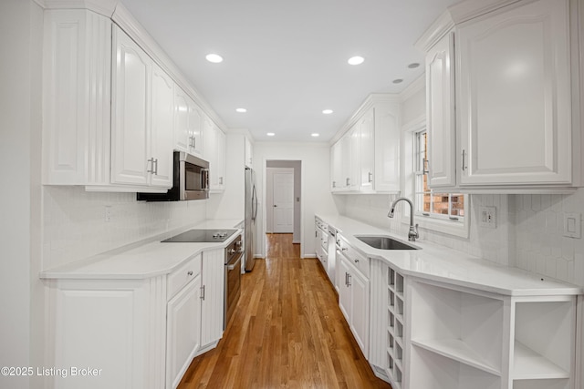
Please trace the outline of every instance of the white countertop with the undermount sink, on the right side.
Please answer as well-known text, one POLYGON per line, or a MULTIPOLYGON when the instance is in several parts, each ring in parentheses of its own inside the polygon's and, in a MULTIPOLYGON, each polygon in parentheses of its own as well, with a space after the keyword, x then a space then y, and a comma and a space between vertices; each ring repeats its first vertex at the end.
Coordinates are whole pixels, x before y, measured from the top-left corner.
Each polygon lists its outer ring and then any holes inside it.
POLYGON ((476 258, 461 251, 427 241, 407 241, 386 230, 339 215, 316 215, 340 235, 355 250, 366 257, 386 261, 402 274, 437 282, 469 287, 485 292, 512 296, 574 295, 584 289, 578 285, 549 278, 537 273, 510 268, 476 258), (359 235, 385 235, 403 241, 420 250, 379 250, 358 240, 359 235))

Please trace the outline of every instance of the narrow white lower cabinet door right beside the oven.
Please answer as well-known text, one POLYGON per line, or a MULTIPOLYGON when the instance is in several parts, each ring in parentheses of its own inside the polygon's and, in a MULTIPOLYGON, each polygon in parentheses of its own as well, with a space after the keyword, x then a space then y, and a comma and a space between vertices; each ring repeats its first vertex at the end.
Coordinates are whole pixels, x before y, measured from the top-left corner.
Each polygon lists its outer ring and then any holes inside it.
POLYGON ((203 252, 201 344, 215 343, 223 336, 224 250, 203 252))

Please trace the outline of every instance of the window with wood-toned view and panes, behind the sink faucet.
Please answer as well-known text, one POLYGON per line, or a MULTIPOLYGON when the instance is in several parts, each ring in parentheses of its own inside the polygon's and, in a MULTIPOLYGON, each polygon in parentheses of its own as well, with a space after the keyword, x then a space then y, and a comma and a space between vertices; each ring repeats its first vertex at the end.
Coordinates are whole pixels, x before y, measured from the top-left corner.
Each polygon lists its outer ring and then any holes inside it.
POLYGON ((464 195, 428 188, 428 133, 414 133, 414 196, 416 213, 438 220, 464 222, 464 195))

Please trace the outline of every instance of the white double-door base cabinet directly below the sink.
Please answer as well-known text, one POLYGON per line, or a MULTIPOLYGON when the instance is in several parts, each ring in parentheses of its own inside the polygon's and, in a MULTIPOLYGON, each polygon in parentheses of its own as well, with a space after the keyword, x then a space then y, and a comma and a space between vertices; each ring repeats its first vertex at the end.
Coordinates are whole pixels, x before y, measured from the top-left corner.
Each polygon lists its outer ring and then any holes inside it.
MULTIPOLYGON (((340 259, 339 267, 341 282, 339 284, 339 307, 345 319, 349 323, 349 328, 355 340, 360 346, 364 355, 369 355, 369 300, 370 282, 369 277, 363 274, 354 266, 349 258, 337 251, 337 258, 340 259)), ((368 259, 360 259, 367 261, 368 259)), ((369 275, 369 274, 368 274, 369 275)))

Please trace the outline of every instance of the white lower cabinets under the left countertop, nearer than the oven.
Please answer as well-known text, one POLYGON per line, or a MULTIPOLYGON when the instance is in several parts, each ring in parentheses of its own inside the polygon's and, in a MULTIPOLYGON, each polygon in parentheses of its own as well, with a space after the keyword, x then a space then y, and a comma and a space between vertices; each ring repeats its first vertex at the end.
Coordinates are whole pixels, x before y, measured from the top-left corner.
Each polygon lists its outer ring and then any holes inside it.
POLYGON ((48 377, 47 388, 174 389, 193 357, 223 336, 224 249, 147 279, 47 285, 47 363, 67 369, 48 377))

